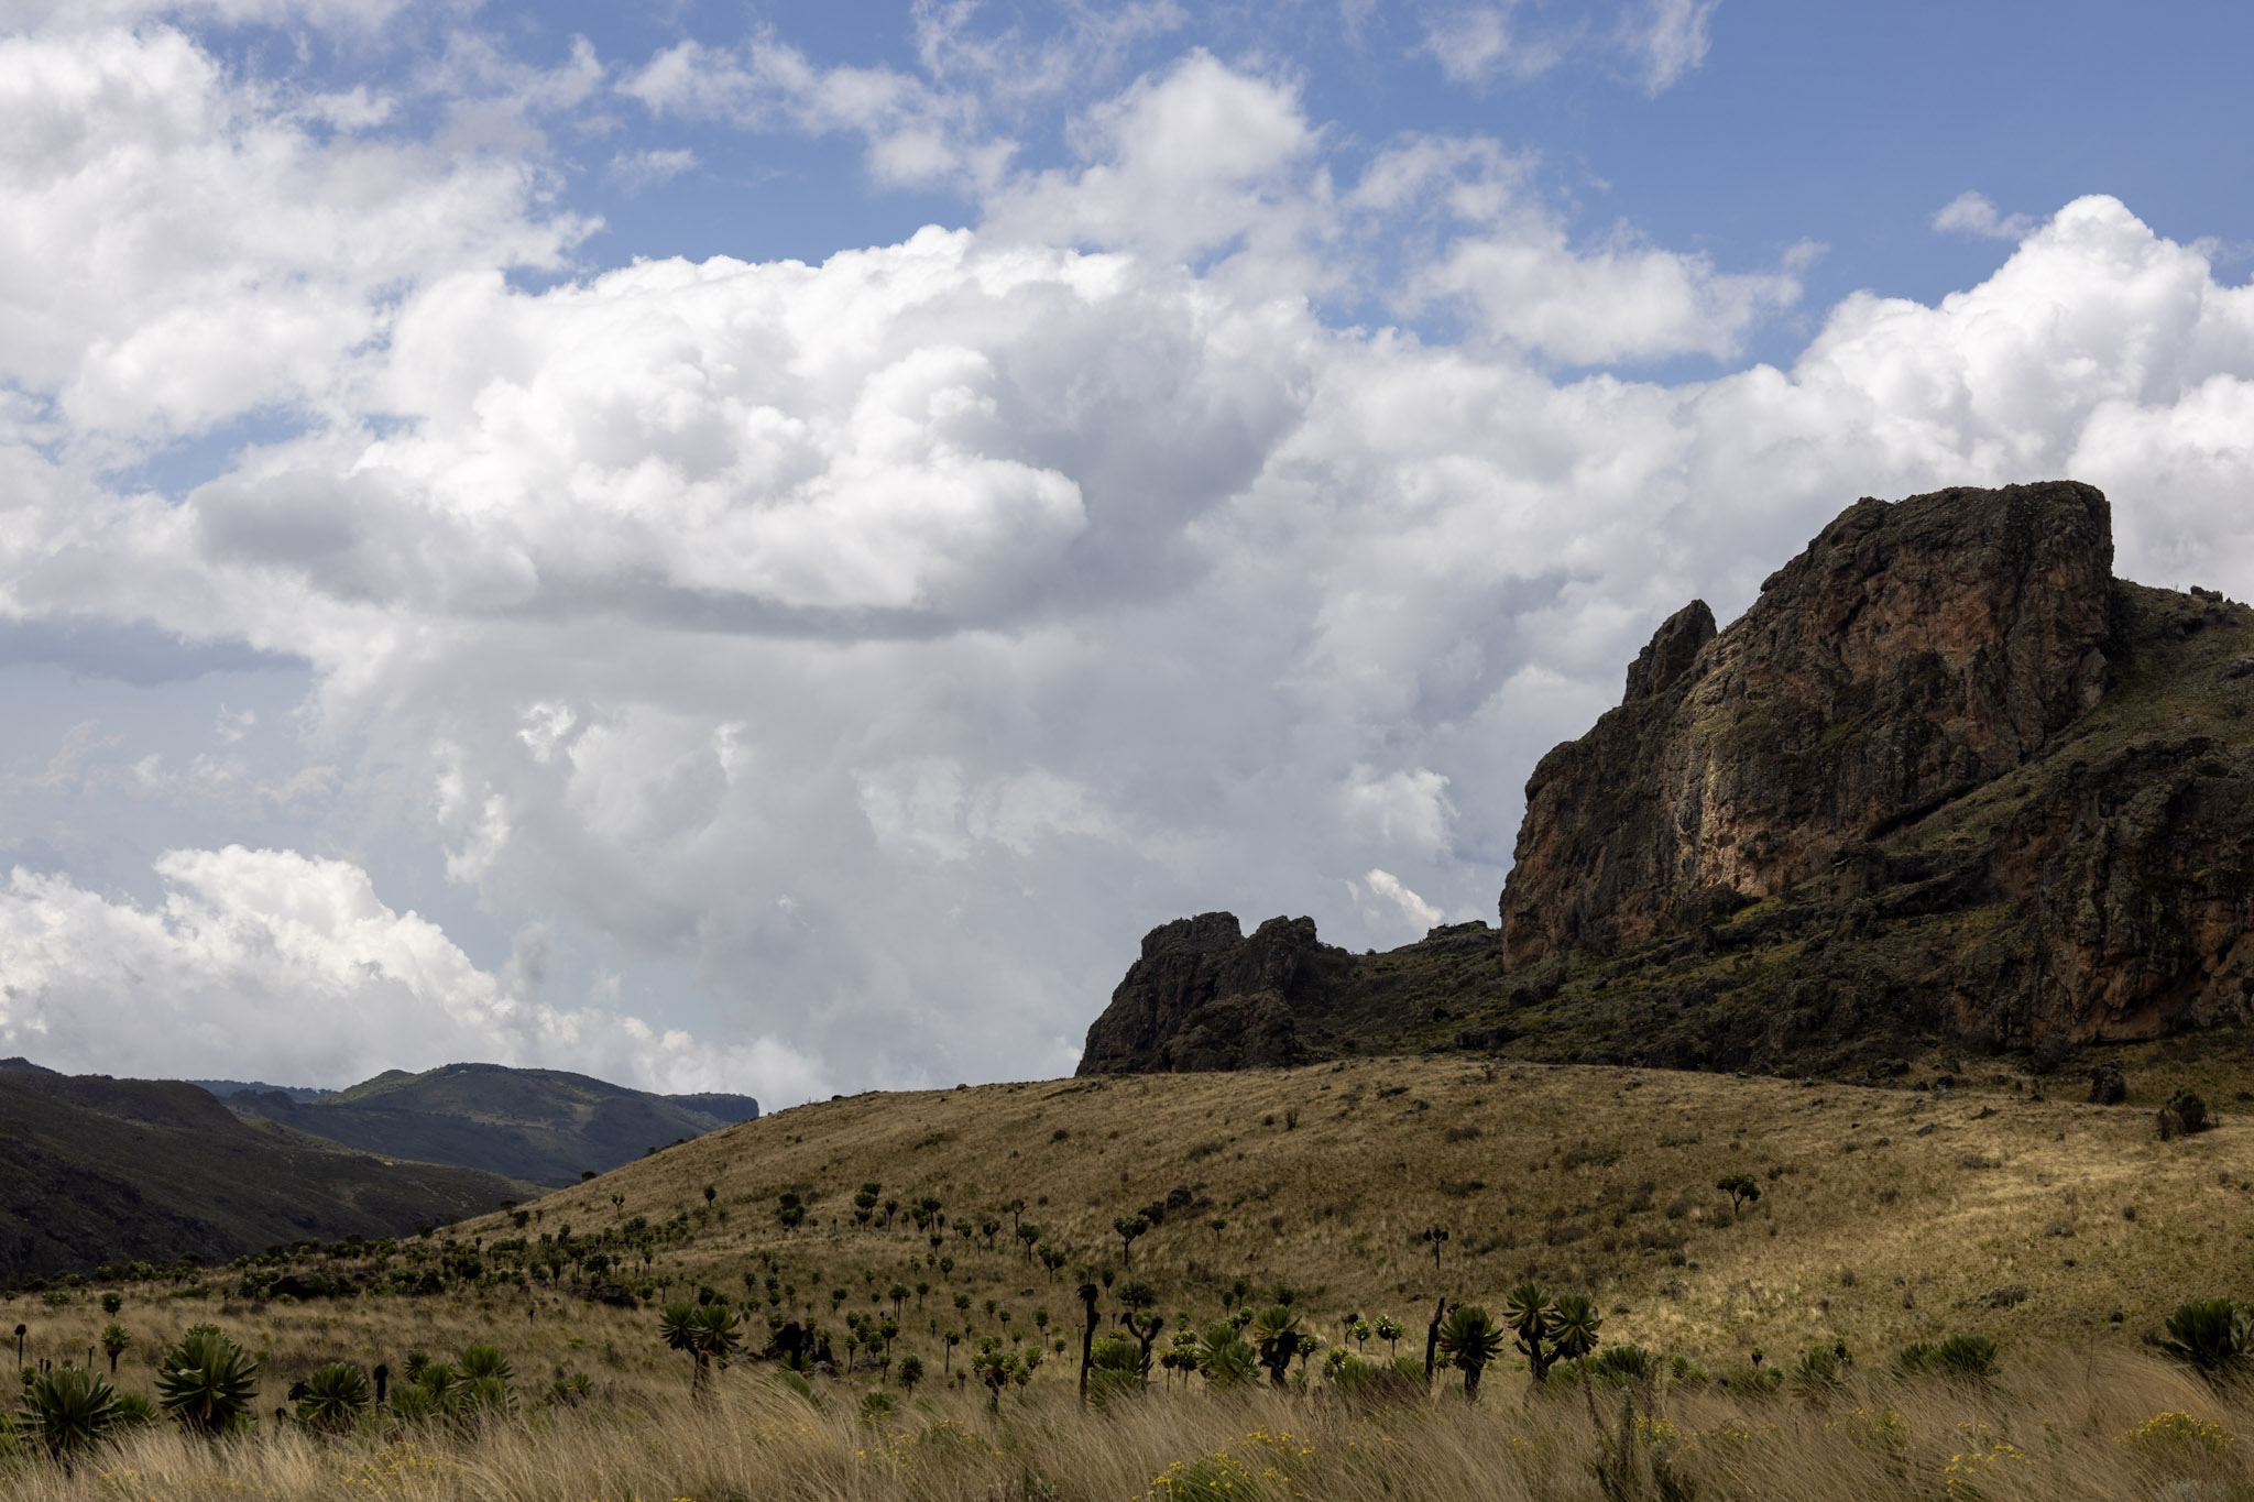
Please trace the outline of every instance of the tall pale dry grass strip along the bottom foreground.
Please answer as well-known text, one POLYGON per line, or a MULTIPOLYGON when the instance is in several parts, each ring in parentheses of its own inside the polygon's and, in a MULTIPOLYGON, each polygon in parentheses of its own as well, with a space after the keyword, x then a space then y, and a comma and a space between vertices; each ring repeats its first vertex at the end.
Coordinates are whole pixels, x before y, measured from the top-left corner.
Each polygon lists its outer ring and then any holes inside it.
MULTIPOLYGON (((9 1461, 11 1502, 95 1497, 433 1497, 478 1502, 1231 1497, 1612 1500, 1776 1497, 1952 1502, 2254 1495, 2240 1434, 2254 1396, 2211 1389, 2141 1353, 2022 1351, 1984 1385, 1851 1374, 1817 1394, 1740 1398, 1661 1383, 1641 1398, 1612 1486, 1578 1392, 1497 1374, 1481 1405, 1456 1394, 1355 1407, 1314 1394, 1163 1392, 1082 1410, 1066 1385, 926 1392, 863 1416, 859 1383, 811 1396, 769 1369, 726 1374, 708 1403, 636 1398, 532 1407, 476 1430, 370 1423, 336 1441, 266 1421, 201 1443, 169 1428, 61 1470, 9 1461), (1659 1477, 1672 1486, 1663 1493, 1659 1477)), ((1621 1394, 1603 1401, 1618 1423, 1621 1394)))

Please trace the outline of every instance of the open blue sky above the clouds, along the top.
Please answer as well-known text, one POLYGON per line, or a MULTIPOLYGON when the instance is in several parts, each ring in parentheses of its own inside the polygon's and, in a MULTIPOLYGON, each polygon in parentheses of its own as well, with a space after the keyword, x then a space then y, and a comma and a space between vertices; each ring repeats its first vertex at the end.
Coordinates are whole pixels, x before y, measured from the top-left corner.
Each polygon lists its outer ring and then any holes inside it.
MULTIPOLYGON (((2254 14, 2240 7, 1731 0, 1704 18, 1711 43, 1697 68, 1657 95, 1632 61, 1587 36, 1618 23, 1603 7, 1521 5, 1512 25, 1535 45, 1573 36, 1564 56, 1533 77, 1499 59, 1483 77, 1449 79, 1431 29, 1479 9, 1373 7, 1350 25, 1316 5, 1201 7, 1122 47, 1095 83, 1122 83, 1204 45, 1294 79, 1343 160, 1404 131, 1494 135, 1539 153, 1546 187, 1589 234, 1625 223, 1738 266, 1821 243, 1808 275, 1812 309, 1857 288, 1932 302, 1979 279, 1999 261, 1997 243, 1932 230, 1934 212, 1963 191, 1984 191, 2006 218, 2105 191, 2164 234, 2222 241, 2234 266, 2254 254, 2254 207, 2218 191, 2254 176, 2238 68, 2254 52, 2254 14)), ((604 56, 647 59, 685 36, 728 45, 771 27, 827 65, 917 70, 897 7, 487 14, 550 63, 577 38, 604 56)), ((980 7, 971 25, 1062 29, 1053 7, 980 7)), ((1023 164, 1068 160, 1059 126, 1075 104, 1055 97, 1012 122, 1023 164)), ((818 259, 976 214, 953 194, 868 185, 850 140, 683 128, 633 113, 620 124, 645 149, 692 151, 699 167, 624 191, 602 180, 600 151, 566 146, 579 169, 573 200, 606 221, 588 243, 597 257, 818 259)), ((1796 351, 1790 329, 1756 342, 1778 360, 1796 351)))

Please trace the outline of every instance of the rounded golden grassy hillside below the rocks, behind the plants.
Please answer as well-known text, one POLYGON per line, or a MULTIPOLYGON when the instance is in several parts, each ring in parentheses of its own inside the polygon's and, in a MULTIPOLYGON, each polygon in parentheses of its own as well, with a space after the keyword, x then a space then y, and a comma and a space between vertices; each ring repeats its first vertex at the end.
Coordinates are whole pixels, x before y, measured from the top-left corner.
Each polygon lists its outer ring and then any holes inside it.
MULTIPOLYGON (((2130 1083, 2157 1099, 2184 1079, 2148 1058, 2130 1083)), ((1686 1351, 1713 1369, 1742 1362, 1745 1344, 1783 1360, 1844 1338, 1884 1358, 1950 1331, 2128 1347, 2177 1302, 2240 1288, 2254 1225, 2245 1106, 2229 1103, 2216 1130, 2162 1142, 2146 1108, 2044 1101, 2038 1083, 1988 1072, 1970 1088, 1911 1092, 1357 1058, 872 1092, 782 1110, 552 1193, 527 1207, 525 1232, 494 1216, 451 1234, 494 1245, 681 1218, 692 1232, 660 1252, 656 1275, 674 1281, 656 1297, 696 1284, 742 1297, 744 1272, 764 1272, 757 1257, 773 1254, 798 1313, 814 1304, 838 1331, 832 1288, 890 1313, 890 1284, 913 1293, 926 1281, 929 1306, 904 1322, 920 1344, 902 1349, 929 1358, 926 1320, 960 1324, 949 1308, 958 1293, 974 1338, 996 1329, 980 1313, 990 1297, 1019 1324, 1041 1306, 1071 1331, 1073 1286, 1127 1266, 1156 1286, 1168 1331, 1177 1311, 1210 1320, 1242 1277, 1262 1295, 1276 1281, 1298 1288, 1325 1340, 1346 1313, 1386 1311, 1422 1333, 1440 1295, 1497 1308, 1537 1277, 1596 1295, 1607 1340, 1686 1351), (1760 1187, 1738 1216, 1715 1189, 1729 1173, 1760 1187), (938 1196, 942 1245, 906 1209, 886 1225, 879 1205, 859 1225, 863 1182, 904 1207, 938 1196), (796 1232, 775 1214, 784 1191, 811 1209, 796 1232), (1014 1200, 1023 1223, 1068 1252, 1055 1275, 1012 1241, 1014 1200), (1156 1225, 1122 1259, 1113 1218, 1129 1212, 1156 1225), (987 1221, 999 1223, 992 1250, 987 1221), (1422 1239, 1434 1227, 1449 1232, 1438 1268, 1422 1239), (953 1268, 942 1272, 938 1254, 953 1268)))

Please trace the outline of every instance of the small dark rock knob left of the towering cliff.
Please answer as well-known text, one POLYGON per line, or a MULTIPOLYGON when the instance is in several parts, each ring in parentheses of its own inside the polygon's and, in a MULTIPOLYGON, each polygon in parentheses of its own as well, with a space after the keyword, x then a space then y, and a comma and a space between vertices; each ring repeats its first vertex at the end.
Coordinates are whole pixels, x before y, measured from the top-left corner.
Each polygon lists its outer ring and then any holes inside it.
POLYGON ((1301 1013, 1321 1004, 1346 964, 1346 950, 1314 937, 1314 919, 1269 919, 1249 939, 1233 912, 1163 923, 1089 1027, 1077 1072, 1303 1063, 1301 1013))

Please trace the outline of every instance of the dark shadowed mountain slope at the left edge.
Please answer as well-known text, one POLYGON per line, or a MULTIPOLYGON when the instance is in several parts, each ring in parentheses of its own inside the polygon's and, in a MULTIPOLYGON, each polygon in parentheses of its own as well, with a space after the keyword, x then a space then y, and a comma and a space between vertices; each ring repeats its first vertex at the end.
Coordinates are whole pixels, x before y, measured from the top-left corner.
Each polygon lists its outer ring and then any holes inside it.
POLYGON ((527 1187, 230 1115, 180 1081, 0 1067, 0 1279, 388 1236, 527 1187))

